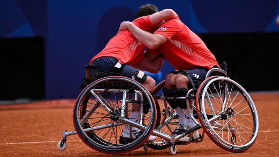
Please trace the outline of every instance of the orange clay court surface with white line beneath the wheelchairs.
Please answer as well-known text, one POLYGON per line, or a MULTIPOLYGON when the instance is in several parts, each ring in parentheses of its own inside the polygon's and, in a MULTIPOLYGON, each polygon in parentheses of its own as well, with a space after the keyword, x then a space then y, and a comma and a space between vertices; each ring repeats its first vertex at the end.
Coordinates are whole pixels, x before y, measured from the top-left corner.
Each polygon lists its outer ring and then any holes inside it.
MULTIPOLYGON (((259 116, 256 142, 246 152, 230 153, 205 135, 201 143, 177 146, 175 156, 279 156, 279 93, 251 94, 259 116)), ((103 154, 85 145, 78 135, 67 137, 67 148, 57 149, 62 130, 71 131, 74 101, 51 100, 0 105, 0 156, 169 156, 168 150, 143 148, 125 154, 103 154)))

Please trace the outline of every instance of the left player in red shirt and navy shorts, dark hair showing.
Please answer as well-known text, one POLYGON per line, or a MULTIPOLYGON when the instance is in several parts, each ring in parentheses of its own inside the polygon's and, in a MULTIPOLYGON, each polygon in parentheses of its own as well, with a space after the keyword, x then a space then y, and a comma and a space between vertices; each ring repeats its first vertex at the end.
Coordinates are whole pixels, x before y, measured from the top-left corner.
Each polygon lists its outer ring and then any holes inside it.
MULTIPOLYGON (((137 10, 132 23, 143 31, 151 31, 163 20, 177 17, 177 14, 171 9, 158 12, 156 6, 146 4, 137 10)), ((100 53, 90 60, 89 64, 95 65, 101 72, 115 72, 134 79, 142 83, 149 91, 153 91, 155 80, 139 69, 157 73, 162 67, 164 58, 160 55, 146 58, 144 49, 145 45, 135 39, 128 30, 120 31, 109 40, 100 53)), ((133 104, 129 118, 139 123, 140 113, 135 111, 135 108, 138 108, 138 104, 133 104)), ((139 132, 140 130, 135 127, 129 130, 126 126, 120 138, 129 139, 130 134, 136 138, 139 132)), ((149 137, 150 141, 155 139, 156 137, 153 135, 149 137)))

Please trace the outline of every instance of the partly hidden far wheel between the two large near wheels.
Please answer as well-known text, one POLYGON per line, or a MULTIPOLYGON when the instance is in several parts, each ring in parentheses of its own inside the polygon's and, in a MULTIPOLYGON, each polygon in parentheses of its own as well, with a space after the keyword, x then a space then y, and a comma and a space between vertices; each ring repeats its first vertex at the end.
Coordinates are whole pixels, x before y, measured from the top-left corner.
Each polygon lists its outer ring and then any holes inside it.
MULTIPOLYGON (((176 129, 178 119, 175 116, 175 111, 171 109, 169 104, 163 99, 160 99, 160 97, 163 96, 162 88, 164 87, 164 85, 165 83, 164 81, 162 81, 153 90, 153 93, 156 97, 154 101, 157 109, 157 125, 155 126, 155 129, 171 135, 172 132, 176 129), (174 116, 172 117, 171 114, 174 116)), ((162 140, 163 139, 161 139, 160 137, 156 137, 156 140, 149 142, 148 147, 155 150, 169 148, 169 145, 165 144, 162 140)))

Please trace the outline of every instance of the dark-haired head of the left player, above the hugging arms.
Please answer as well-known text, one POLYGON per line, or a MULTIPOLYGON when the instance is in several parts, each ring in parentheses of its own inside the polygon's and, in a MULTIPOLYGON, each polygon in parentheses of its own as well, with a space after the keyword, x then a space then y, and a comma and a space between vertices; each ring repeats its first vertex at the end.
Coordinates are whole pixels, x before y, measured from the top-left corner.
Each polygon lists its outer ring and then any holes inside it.
POLYGON ((137 19, 142 16, 146 16, 146 15, 152 15, 156 12, 159 12, 159 10, 157 9, 157 7, 155 5, 145 4, 145 5, 140 6, 140 8, 138 8, 137 12, 134 15, 134 19, 137 19))

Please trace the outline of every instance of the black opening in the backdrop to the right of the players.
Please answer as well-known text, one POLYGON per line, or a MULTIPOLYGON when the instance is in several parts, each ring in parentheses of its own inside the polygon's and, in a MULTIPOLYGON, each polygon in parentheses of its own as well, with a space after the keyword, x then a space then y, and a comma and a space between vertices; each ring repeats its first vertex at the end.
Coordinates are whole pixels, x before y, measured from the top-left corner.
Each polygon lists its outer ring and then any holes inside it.
POLYGON ((202 34, 219 64, 248 91, 279 90, 279 33, 202 34))

